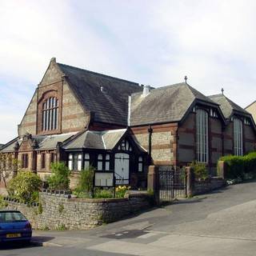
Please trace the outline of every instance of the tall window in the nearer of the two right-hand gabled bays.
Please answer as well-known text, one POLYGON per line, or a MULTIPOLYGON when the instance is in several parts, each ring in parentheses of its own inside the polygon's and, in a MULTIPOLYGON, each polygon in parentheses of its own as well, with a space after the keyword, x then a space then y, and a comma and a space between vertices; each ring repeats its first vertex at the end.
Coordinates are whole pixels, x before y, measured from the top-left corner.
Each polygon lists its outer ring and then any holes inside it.
POLYGON ((197 161, 208 162, 208 113, 206 110, 196 111, 196 122, 197 161))

